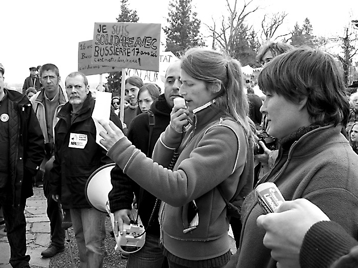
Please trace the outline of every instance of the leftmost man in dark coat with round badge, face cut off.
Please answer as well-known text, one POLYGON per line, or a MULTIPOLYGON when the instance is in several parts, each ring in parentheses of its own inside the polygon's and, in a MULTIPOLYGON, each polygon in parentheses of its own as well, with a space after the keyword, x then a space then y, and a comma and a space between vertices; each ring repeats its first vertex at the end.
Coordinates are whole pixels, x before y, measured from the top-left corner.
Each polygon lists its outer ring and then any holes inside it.
MULTIPOLYGON (((0 64, 0 206, 3 208, 12 267, 30 267, 26 255, 26 199, 44 157, 41 129, 27 96, 4 86, 0 64)), ((4 254, 3 252, 0 254, 4 254)))

